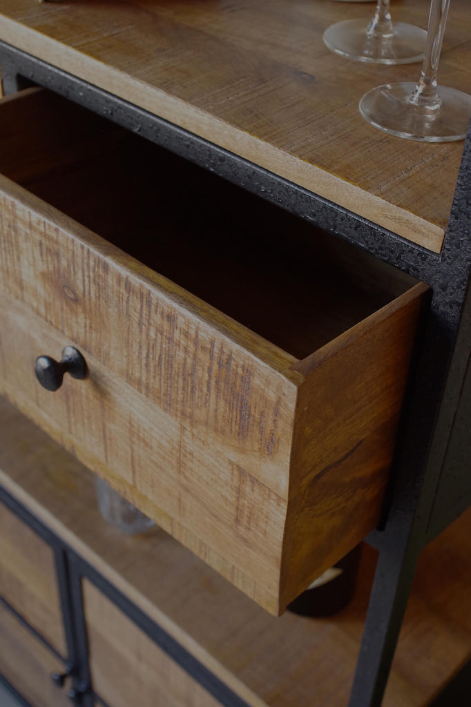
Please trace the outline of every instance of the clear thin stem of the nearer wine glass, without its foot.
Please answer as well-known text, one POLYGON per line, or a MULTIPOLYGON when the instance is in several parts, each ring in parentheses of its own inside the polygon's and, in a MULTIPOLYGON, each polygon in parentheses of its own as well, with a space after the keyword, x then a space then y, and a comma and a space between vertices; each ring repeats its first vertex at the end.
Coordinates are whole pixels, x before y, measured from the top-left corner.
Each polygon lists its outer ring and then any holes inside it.
POLYGON ((449 7, 450 0, 431 0, 424 63, 422 64, 419 83, 417 83, 411 97, 412 103, 431 109, 440 107, 436 72, 438 70, 449 7))

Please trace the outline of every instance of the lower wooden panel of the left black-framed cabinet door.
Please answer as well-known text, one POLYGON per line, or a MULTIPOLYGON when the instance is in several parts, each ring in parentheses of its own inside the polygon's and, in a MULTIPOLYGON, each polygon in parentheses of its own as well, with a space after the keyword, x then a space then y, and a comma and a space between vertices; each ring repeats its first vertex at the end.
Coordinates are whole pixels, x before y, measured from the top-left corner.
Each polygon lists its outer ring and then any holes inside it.
POLYGON ((70 705, 66 690, 51 679, 62 669, 61 662, 0 604, 0 673, 31 707, 70 705))

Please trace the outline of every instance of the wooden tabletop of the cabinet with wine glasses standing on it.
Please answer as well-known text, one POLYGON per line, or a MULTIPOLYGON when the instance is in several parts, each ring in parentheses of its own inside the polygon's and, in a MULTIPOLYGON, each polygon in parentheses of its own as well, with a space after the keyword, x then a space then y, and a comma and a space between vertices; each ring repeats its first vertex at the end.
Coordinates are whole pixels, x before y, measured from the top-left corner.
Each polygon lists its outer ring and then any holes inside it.
MULTIPOLYGON (((426 27, 428 0, 397 0, 426 27)), ((468 0, 454 0, 439 81, 471 88, 468 0)), ((371 5, 326 0, 0 0, 0 39, 439 252, 463 141, 419 144, 359 115, 366 90, 419 64, 332 54, 325 28, 371 5)))

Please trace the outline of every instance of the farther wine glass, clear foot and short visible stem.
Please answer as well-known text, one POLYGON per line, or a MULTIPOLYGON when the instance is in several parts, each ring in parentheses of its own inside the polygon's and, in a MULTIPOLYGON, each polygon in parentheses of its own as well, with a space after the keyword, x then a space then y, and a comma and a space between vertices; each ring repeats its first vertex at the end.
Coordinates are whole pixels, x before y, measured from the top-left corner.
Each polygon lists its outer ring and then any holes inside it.
POLYGON ((392 23, 390 0, 377 0, 370 23, 344 20, 325 30, 325 45, 342 57, 372 64, 409 64, 424 57, 426 31, 405 22, 392 23))

